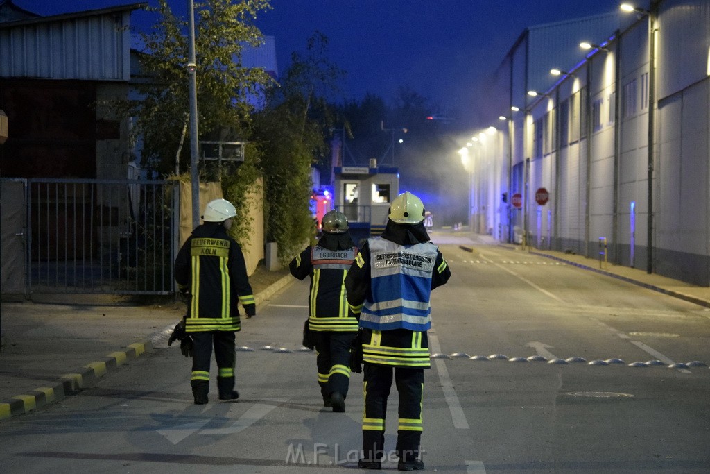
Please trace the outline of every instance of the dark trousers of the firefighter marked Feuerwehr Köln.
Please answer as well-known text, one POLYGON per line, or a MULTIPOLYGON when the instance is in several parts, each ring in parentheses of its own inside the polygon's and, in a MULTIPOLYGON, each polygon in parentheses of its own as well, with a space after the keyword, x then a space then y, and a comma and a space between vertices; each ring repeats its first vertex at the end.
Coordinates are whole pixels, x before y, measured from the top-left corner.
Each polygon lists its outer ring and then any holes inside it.
POLYGON ((219 394, 231 394, 234 389, 234 331, 190 333, 192 336, 192 394, 207 396, 209 392, 209 364, 217 361, 217 389, 219 394))

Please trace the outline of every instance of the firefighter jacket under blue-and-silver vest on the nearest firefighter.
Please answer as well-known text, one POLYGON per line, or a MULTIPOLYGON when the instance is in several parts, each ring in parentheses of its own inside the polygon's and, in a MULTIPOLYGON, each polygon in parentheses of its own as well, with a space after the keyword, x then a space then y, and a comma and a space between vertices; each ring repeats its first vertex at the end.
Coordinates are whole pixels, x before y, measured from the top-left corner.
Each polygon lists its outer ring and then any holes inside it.
POLYGON ((449 276, 423 224, 388 221, 381 237, 368 239, 345 280, 349 306, 364 328, 363 362, 429 367, 430 292, 449 276))

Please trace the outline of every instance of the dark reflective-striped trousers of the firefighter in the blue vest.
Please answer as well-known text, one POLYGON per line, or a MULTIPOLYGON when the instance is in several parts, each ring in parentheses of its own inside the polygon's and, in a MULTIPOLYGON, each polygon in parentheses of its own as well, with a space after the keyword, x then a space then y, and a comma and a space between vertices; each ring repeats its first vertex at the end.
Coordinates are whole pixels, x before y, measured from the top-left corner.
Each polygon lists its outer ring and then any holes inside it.
POLYGON ((396 453, 404 462, 418 458, 422 439, 424 369, 365 362, 363 372, 365 392, 365 414, 362 421, 363 459, 376 461, 386 457, 385 416, 393 372, 399 394, 396 453))

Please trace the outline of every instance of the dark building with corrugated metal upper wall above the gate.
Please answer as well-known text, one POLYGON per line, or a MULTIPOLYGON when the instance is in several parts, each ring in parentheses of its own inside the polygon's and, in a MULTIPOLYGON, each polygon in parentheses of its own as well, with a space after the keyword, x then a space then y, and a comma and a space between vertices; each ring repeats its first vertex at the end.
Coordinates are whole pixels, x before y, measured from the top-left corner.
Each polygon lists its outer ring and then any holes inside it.
POLYGON ((39 17, 0 4, 0 109, 10 138, 2 176, 125 178, 131 12, 146 3, 39 17))

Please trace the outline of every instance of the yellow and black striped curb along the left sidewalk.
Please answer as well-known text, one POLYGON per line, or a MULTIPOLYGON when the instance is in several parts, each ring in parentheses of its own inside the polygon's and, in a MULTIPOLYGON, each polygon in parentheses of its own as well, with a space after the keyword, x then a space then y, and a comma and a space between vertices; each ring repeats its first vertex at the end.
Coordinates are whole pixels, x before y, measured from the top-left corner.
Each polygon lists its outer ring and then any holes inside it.
POLYGON ((126 350, 111 352, 102 360, 91 362, 75 372, 62 375, 50 387, 37 387, 26 394, 0 400, 0 421, 59 402, 82 389, 92 387, 109 370, 114 370, 127 361, 136 359, 152 348, 151 341, 133 343, 126 350))

